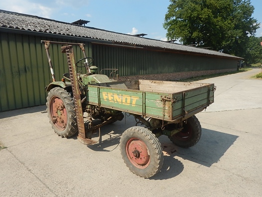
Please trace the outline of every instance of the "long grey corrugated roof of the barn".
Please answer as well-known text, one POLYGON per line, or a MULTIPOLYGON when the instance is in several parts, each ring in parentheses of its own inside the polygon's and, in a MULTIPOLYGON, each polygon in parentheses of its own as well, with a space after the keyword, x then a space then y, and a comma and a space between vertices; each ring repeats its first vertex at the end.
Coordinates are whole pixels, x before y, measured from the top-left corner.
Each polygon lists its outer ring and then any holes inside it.
POLYGON ((46 32, 53 34, 77 36, 94 38, 99 40, 108 40, 118 43, 136 44, 140 46, 152 46, 163 49, 173 49, 193 53, 202 53, 209 55, 218 55, 224 57, 240 58, 226 53, 221 53, 214 50, 197 48, 193 46, 186 46, 182 44, 170 43, 157 39, 150 39, 129 35, 124 33, 117 33, 108 30, 81 26, 67 22, 51 20, 43 17, 11 12, 0 9, 0 27, 15 28, 21 30, 46 32))

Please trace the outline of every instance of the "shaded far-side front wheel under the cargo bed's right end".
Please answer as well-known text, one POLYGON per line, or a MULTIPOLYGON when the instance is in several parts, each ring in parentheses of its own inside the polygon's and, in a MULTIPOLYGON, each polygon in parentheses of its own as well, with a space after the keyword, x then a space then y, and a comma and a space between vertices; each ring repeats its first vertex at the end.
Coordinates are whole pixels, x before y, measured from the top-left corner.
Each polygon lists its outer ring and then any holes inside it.
POLYGON ((187 119, 187 123, 183 124, 183 130, 170 136, 170 140, 176 145, 188 148, 199 141, 202 133, 201 124, 198 118, 193 115, 187 119))

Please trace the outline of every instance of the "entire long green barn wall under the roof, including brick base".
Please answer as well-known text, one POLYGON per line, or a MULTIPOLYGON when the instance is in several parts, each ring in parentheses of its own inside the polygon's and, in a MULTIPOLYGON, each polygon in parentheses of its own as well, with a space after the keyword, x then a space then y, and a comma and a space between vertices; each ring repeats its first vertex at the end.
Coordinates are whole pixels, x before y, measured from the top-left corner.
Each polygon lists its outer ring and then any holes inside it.
MULTIPOLYGON (((83 38, 76 41, 76 38, 47 36, 0 32, 0 111, 45 104, 47 94, 44 87, 52 77, 41 40, 85 43, 86 54, 94 58, 94 65, 99 69, 118 68, 122 80, 134 76, 173 80, 179 79, 178 75, 190 77, 237 69, 235 59, 91 44, 83 38)), ((66 55, 61 53, 60 46, 51 44, 49 49, 56 80, 68 72, 66 55)), ((74 52, 76 60, 83 57, 78 46, 74 46, 74 52)))

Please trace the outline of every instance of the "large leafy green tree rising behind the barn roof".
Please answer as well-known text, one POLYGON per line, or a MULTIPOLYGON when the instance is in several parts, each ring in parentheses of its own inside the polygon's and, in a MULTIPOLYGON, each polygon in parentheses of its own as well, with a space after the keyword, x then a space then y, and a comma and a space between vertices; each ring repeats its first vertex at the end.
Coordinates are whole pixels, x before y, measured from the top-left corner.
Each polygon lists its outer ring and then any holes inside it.
POLYGON ((260 23, 250 0, 170 0, 164 28, 168 39, 245 56, 260 23))

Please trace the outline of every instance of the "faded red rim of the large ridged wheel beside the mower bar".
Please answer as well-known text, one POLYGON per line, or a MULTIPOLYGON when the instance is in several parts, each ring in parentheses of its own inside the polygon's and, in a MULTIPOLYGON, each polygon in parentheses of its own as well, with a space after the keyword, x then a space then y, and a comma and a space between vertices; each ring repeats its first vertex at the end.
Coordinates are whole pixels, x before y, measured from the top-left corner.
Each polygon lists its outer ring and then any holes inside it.
POLYGON ((67 112, 63 101, 59 97, 53 96, 50 99, 49 113, 53 125, 58 130, 63 131, 67 124, 67 112))

